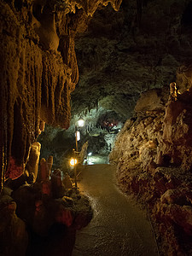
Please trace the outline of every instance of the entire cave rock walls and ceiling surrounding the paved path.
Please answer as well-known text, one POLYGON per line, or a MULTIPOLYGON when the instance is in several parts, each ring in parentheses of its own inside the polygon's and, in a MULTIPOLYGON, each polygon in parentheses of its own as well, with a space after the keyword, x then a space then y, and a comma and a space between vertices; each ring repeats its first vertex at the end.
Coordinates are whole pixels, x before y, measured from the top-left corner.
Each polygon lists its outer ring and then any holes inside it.
POLYGON ((73 255, 93 218, 68 164, 77 130, 79 169, 115 166, 159 255, 192 255, 192 1, 0 0, 0 14, 0 255, 73 255))

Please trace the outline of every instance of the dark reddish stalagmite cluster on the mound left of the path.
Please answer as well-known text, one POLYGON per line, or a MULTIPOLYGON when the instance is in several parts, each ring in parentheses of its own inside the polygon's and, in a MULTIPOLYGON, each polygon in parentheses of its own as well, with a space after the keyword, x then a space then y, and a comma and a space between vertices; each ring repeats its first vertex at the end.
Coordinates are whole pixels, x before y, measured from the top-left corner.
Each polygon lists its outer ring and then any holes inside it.
POLYGON ((0 254, 5 256, 71 255, 75 230, 92 215, 69 174, 52 171, 51 155, 40 160, 38 170, 39 153, 40 144, 34 143, 26 171, 6 181, 0 197, 0 254))

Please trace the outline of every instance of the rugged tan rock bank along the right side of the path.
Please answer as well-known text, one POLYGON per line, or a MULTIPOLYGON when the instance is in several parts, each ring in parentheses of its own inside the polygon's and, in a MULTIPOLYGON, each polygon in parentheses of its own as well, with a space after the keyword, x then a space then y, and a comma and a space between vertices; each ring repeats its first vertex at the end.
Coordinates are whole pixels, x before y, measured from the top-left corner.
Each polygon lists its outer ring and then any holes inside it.
POLYGON ((136 117, 126 121, 110 154, 111 162, 118 164, 120 188, 148 205, 166 255, 189 255, 192 246, 190 80, 178 77, 180 83, 170 84, 166 97, 162 90, 145 93, 137 102, 136 117), (182 87, 186 81, 188 90, 182 87))

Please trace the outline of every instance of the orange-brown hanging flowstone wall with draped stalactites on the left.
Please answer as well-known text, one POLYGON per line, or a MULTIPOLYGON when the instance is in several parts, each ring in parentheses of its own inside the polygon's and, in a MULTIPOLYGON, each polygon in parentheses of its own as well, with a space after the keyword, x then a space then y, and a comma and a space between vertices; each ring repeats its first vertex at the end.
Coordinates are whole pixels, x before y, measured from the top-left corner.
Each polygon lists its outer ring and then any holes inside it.
POLYGON ((8 165, 14 172, 10 157, 25 167, 42 121, 68 128, 70 93, 79 80, 74 38, 108 2, 117 10, 121 0, 1 1, 2 173, 8 165))

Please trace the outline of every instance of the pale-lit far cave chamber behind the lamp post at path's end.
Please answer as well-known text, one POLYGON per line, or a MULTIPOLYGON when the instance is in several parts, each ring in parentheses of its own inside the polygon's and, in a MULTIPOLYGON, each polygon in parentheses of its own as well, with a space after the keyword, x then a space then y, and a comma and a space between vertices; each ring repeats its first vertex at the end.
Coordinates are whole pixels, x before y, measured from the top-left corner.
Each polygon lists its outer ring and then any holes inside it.
POLYGON ((48 159, 52 155, 53 170, 59 168, 62 173, 70 174, 73 172, 70 159, 78 146, 80 165, 108 164, 108 155, 124 121, 115 111, 99 107, 74 114, 67 130, 45 125, 45 130, 38 137, 40 159, 48 159), (84 119, 81 127, 76 125, 79 117, 84 119), (76 142, 77 131, 79 138, 76 142))

